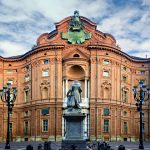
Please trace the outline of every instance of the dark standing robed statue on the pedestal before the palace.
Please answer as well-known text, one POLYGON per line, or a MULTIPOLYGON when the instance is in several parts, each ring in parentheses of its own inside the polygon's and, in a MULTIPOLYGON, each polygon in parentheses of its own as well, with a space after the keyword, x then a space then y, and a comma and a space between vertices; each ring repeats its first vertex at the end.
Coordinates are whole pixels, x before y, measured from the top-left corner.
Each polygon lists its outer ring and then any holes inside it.
POLYGON ((67 107, 80 109, 79 103, 81 102, 81 84, 78 80, 75 80, 71 86, 69 91, 67 92, 67 107))

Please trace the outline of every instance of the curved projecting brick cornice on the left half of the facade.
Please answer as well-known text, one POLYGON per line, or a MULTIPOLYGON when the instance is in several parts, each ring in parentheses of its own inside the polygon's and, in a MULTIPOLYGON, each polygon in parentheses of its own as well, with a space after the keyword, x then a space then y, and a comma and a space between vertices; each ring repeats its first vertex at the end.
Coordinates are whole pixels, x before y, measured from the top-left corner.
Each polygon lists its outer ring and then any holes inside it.
POLYGON ((20 55, 18 57, 16 56, 16 57, 4 58, 4 57, 0 56, 0 60, 6 61, 6 62, 20 61, 20 60, 24 60, 25 58, 27 58, 35 53, 39 53, 44 50, 63 49, 64 47, 65 46, 63 44, 46 44, 46 45, 41 45, 41 46, 35 46, 32 50, 30 50, 27 53, 20 55))

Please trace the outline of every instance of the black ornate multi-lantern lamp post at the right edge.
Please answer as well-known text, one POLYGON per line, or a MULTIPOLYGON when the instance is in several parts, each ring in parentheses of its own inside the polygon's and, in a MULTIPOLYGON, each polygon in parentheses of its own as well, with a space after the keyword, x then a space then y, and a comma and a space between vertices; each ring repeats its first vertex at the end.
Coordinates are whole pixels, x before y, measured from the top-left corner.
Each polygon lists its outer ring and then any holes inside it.
POLYGON ((142 121, 142 105, 144 101, 147 101, 150 97, 150 88, 146 88, 143 81, 139 82, 140 88, 137 90, 137 86, 133 88, 134 100, 136 101, 137 110, 140 112, 140 137, 139 137, 139 149, 144 149, 143 145, 143 121, 142 121), (147 97, 146 97, 147 95, 147 97))

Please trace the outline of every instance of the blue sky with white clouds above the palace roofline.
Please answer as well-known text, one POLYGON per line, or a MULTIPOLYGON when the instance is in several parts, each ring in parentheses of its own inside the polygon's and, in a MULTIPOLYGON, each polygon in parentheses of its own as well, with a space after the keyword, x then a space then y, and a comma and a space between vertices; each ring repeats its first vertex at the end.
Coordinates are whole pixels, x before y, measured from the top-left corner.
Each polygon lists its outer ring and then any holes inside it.
POLYGON ((0 56, 28 52, 75 10, 112 34, 123 52, 150 58, 150 0, 0 0, 0 56))

